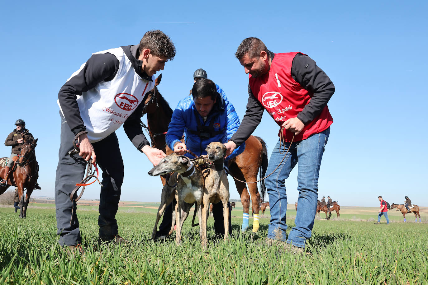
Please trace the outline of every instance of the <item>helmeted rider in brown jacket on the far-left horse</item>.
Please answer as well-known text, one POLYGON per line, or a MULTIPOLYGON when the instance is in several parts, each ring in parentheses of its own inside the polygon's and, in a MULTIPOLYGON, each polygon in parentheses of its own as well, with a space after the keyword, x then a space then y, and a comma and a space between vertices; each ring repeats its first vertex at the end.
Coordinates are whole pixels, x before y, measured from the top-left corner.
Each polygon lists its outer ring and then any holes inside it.
MULTIPOLYGON (((5 187, 7 185, 7 179, 9 178, 10 173, 13 172, 12 166, 14 164, 13 158, 19 156, 21 152, 21 146, 24 144, 24 138, 26 140, 34 140, 33 135, 28 132, 28 129, 25 128, 24 120, 18 119, 15 122, 16 129, 11 132, 4 142, 6 147, 12 147, 12 154, 9 157, 7 166, 5 167, 5 177, 0 181, 0 186, 5 187)), ((39 183, 36 182, 34 189, 42 189, 39 186, 39 183)))

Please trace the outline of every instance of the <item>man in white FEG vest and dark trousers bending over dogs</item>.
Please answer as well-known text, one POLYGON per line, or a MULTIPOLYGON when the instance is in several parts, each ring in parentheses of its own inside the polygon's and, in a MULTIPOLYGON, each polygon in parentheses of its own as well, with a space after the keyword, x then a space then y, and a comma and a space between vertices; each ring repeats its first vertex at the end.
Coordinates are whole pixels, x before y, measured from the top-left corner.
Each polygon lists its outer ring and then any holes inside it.
MULTIPOLYGON (((121 125, 138 151, 153 165, 165 157, 150 147, 140 125, 143 98, 155 87, 155 73, 175 56, 171 39, 160 30, 146 32, 140 44, 93 53, 65 82, 58 94, 61 117, 59 162, 56 169, 55 205, 59 244, 82 251, 76 202, 69 195, 82 180, 86 162, 98 163, 103 172, 98 242, 125 243, 115 219, 124 176, 116 137, 121 125), (80 153, 73 156, 77 138, 80 153)), ((77 197, 77 194, 75 195, 77 197)))

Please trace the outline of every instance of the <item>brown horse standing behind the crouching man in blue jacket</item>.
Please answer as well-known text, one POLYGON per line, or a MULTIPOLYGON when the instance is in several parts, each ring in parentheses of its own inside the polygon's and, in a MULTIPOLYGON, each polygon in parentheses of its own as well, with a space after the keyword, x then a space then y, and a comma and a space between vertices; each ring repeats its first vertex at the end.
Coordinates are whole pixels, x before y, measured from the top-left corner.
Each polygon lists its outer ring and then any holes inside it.
MULTIPOLYGON (((152 147, 163 150, 164 153, 171 154, 172 150, 165 143, 165 135, 168 130, 168 125, 171 122, 172 109, 169 104, 159 93, 157 86, 160 83, 161 75, 158 76, 155 82, 155 88, 147 92, 143 100, 144 108, 143 115, 147 114, 147 131, 152 140, 152 147)), ((144 126, 144 125, 143 125, 144 126)), ((240 155, 229 161, 229 170, 233 177, 254 182, 257 180, 257 174, 260 178, 265 176, 268 168, 268 150, 265 141, 256 136, 250 136, 245 141, 245 150, 240 155)), ((165 177, 161 177, 163 185, 165 185, 165 177)), ((250 213, 250 197, 253 203, 253 213, 259 214, 260 194, 256 183, 247 184, 235 180, 236 189, 241 196, 241 203, 244 208, 244 213, 250 213), (248 194, 248 190, 250 194, 248 194)), ((260 183, 262 197, 265 194, 266 187, 264 180, 260 183)), ((247 227, 242 228, 245 231, 247 227)), ((253 229, 256 232, 257 229, 253 229)))

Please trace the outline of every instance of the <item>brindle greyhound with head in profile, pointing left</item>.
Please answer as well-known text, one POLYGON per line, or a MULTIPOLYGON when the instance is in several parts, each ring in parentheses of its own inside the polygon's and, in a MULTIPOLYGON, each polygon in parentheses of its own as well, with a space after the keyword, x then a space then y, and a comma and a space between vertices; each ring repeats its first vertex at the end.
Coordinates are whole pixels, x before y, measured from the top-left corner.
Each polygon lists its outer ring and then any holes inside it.
MULTIPOLYGON (((152 232, 152 238, 155 238, 156 230, 158 228, 158 222, 160 216, 162 216, 165 211, 166 205, 172 202, 172 192, 175 189, 175 200, 177 204, 175 205, 175 224, 177 225, 175 242, 177 244, 181 243, 181 226, 183 225, 184 220, 187 218, 190 208, 193 206, 193 203, 196 202, 196 207, 198 211, 199 221, 202 219, 202 195, 204 191, 204 179, 202 172, 198 166, 196 166, 190 159, 186 156, 178 156, 175 153, 164 157, 158 165, 153 167, 149 171, 151 176, 164 175, 166 173, 176 172, 177 175, 177 185, 176 187, 171 187, 168 183, 162 189, 162 197, 160 201, 160 206, 158 214, 156 215, 156 223, 152 232)), ((171 176, 169 183, 175 181, 175 175, 171 176)), ((229 199, 229 198, 228 198, 229 199)), ((206 238, 206 223, 200 223, 199 232, 201 238, 203 237, 202 233, 205 232, 206 238), (205 228, 204 228, 205 226, 205 228)), ((202 241, 202 244, 204 242, 202 241)), ((206 244, 206 241, 205 241, 206 244)))

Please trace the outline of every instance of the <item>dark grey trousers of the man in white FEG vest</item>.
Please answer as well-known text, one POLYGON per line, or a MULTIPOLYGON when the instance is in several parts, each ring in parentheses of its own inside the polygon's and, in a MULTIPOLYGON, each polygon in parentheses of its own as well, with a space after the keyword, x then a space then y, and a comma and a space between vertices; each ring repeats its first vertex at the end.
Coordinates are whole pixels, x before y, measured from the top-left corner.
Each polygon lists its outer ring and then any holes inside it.
MULTIPOLYGON (((86 171, 86 162, 78 154, 73 157, 67 154, 69 150, 73 149, 73 138, 73 132, 61 115, 61 144, 55 180, 56 227, 61 246, 76 245, 82 241, 77 214, 74 214, 70 226, 73 206, 70 194, 76 187, 76 183, 82 181, 86 171)), ((92 146, 97 156, 98 167, 103 172, 101 181, 103 186, 101 187, 100 206, 98 208, 100 213, 98 217, 99 236, 110 238, 118 233, 115 216, 123 182, 123 160, 119 150, 119 141, 114 132, 107 138, 92 143, 92 146)), ((98 183, 95 182, 87 187, 97 187, 97 185, 98 183)))

